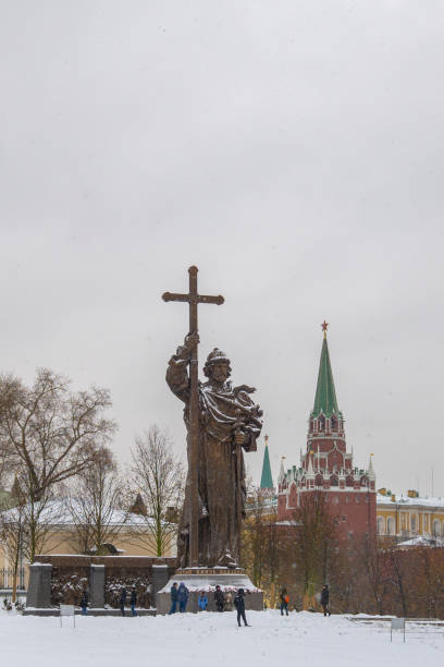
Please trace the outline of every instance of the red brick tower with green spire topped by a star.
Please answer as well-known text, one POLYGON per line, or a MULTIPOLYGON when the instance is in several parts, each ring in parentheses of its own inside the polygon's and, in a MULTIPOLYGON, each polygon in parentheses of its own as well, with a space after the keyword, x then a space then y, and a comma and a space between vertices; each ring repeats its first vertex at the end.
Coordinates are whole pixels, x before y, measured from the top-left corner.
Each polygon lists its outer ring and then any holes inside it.
POLYGON ((293 465, 279 477, 279 519, 289 520, 300 495, 325 493, 331 511, 338 519, 342 536, 374 535, 377 532, 375 475, 370 458, 367 470, 353 463, 347 452, 344 417, 337 408, 333 373, 326 343, 328 324, 322 324, 321 361, 314 405, 308 421, 307 450, 300 466, 293 465))

